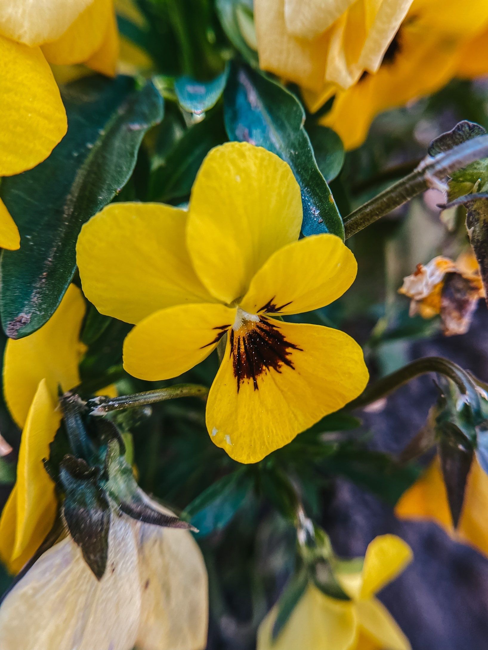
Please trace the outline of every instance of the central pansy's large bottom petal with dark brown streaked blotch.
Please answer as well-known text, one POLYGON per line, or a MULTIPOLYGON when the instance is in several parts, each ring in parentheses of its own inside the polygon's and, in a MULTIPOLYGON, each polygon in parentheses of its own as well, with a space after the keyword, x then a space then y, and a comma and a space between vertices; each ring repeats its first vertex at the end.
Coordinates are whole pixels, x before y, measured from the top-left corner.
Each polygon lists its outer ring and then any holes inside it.
POLYGON ((358 396, 368 382, 360 346, 347 334, 272 318, 230 331, 208 396, 212 441, 255 463, 358 396))

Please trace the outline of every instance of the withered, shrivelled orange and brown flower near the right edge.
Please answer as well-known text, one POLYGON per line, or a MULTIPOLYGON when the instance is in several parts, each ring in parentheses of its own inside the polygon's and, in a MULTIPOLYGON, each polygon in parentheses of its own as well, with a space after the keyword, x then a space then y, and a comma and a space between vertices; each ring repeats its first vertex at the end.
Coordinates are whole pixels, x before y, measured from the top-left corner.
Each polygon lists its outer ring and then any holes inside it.
POLYGON ((480 268, 471 249, 455 262, 439 256, 425 266, 418 264, 415 272, 403 279, 398 292, 412 299, 411 316, 441 315, 446 336, 468 331, 478 300, 485 295, 480 268))

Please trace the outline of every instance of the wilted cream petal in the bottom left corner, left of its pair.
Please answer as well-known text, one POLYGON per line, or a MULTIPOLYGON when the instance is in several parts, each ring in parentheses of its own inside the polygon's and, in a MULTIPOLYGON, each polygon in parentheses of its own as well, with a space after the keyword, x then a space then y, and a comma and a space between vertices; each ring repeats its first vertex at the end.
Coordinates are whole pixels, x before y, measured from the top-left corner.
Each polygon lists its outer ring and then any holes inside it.
POLYGON ((1 647, 128 650, 135 644, 140 613, 132 526, 125 518, 112 515, 107 570, 102 579, 93 575, 69 536, 55 544, 1 604, 1 647))

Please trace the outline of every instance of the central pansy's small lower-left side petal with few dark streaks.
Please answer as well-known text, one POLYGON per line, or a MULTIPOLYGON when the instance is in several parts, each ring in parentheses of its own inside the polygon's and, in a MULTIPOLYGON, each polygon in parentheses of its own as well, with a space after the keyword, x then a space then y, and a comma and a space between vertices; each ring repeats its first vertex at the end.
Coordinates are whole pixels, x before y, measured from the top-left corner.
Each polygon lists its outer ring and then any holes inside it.
POLYGON ((208 357, 236 318, 224 305, 176 305, 141 320, 124 341, 124 368, 140 379, 170 379, 208 357))

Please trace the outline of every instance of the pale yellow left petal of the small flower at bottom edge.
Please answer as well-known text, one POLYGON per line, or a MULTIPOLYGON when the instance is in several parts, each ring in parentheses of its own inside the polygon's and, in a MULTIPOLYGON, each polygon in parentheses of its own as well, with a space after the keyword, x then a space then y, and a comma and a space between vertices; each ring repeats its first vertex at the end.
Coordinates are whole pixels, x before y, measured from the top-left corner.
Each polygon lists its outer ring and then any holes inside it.
POLYGON ((273 642, 277 606, 258 629, 257 650, 349 650, 357 634, 351 603, 336 601, 309 586, 273 642))

